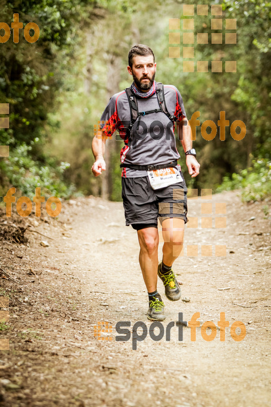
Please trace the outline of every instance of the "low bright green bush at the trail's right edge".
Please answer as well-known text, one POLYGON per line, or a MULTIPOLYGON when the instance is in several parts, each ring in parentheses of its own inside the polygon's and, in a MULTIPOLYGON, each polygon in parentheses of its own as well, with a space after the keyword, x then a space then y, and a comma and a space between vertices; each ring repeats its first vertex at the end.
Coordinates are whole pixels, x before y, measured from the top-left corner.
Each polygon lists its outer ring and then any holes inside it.
MULTIPOLYGON (((252 166, 232 176, 223 178, 223 183, 217 192, 242 188, 243 201, 262 200, 271 195, 271 161, 258 159, 252 161, 252 166)), ((268 207, 267 207, 268 208, 268 207)), ((266 214, 265 214, 266 215, 266 214)))

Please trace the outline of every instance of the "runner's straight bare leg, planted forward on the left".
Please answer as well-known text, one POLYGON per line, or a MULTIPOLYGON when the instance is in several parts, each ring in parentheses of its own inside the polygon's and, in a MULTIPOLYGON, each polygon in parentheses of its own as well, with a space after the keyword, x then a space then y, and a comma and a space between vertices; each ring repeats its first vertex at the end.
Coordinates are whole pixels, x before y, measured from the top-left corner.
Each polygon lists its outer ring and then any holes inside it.
POLYGON ((137 231, 140 245, 139 264, 148 293, 157 288, 159 235, 156 227, 146 227, 137 231))

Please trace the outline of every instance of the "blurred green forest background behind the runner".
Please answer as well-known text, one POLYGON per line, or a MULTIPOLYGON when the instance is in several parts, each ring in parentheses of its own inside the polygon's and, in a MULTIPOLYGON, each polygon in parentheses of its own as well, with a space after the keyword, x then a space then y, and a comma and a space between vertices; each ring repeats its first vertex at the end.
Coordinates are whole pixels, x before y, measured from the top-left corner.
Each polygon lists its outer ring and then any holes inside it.
MULTIPOLYGON (((9 128, 0 129, 0 145, 9 145, 9 157, 0 158, 0 195, 10 187, 18 196, 42 194, 102 196, 121 200, 119 152, 123 142, 115 137, 106 149, 107 171, 95 178, 92 138, 109 98, 131 84, 128 51, 143 43, 153 49, 156 80, 177 86, 188 119, 200 111, 200 124, 220 111, 226 120, 246 125, 246 136, 236 141, 226 127, 205 140, 197 128, 193 147, 201 164, 200 175, 188 175, 182 146, 177 140, 180 164, 189 188, 213 191, 243 188, 247 201, 271 194, 270 71, 271 3, 240 0, 208 3, 208 15, 183 15, 177 0, 0 0, 0 21, 11 27, 19 14, 23 27, 35 22, 40 37, 27 42, 0 43, 0 103, 9 103, 9 128), (223 15, 213 16, 211 5, 222 5, 223 15), (180 18, 180 44, 169 44, 169 19, 180 18), (195 40, 194 72, 183 72, 183 20, 194 18, 197 33, 208 34, 208 44, 195 40), (211 30, 211 18, 223 18, 223 29, 211 30), (236 19, 235 31, 225 30, 225 19, 236 19), (236 44, 212 44, 212 33, 237 33, 236 44), (169 57, 169 46, 180 47, 180 57, 169 57), (199 73, 197 61, 208 61, 208 72, 199 73), (211 61, 222 61, 223 72, 212 72, 211 61), (225 61, 236 61, 236 72, 225 72, 225 61)), ((172 31, 172 30, 171 30, 172 31)), ((175 31, 176 33, 178 31, 175 31)), ((0 35, 4 36, 4 30, 0 35)), ((34 32, 30 31, 30 35, 34 32)), ((7 114, 0 114, 0 118, 7 114)), ((1 119, 0 119, 1 121, 1 119)), ((210 129, 207 129, 209 132, 210 129)), ((237 131, 237 129, 236 129, 237 131)))

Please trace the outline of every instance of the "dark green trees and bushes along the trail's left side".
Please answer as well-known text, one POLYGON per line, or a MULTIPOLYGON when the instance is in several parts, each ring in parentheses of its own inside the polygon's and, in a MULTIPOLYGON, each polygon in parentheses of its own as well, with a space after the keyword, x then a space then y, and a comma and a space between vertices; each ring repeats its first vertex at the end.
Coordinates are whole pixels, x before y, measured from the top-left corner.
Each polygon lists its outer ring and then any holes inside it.
POLYGON ((10 128, 0 129, 0 145, 10 146, 9 159, 0 159, 3 188, 12 185, 27 195, 36 186, 46 195, 68 197, 73 192, 63 177, 69 165, 44 151, 45 124, 58 107, 57 92, 65 87, 63 71, 66 66, 69 72, 74 63, 81 30, 95 18, 94 6, 98 8, 98 2, 89 0, 0 0, 2 21, 9 26, 18 13, 23 28, 32 21, 40 27, 35 43, 28 43, 19 30, 19 43, 11 34, 0 44, 0 103, 10 105, 10 128))

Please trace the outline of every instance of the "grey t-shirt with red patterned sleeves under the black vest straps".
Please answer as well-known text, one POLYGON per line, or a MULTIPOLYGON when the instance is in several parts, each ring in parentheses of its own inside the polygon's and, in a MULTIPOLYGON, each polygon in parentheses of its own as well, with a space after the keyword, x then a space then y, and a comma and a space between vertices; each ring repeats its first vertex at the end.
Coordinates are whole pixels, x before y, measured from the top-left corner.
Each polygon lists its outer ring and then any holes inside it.
MULTIPOLYGON (((164 85, 165 104, 170 114, 179 120, 186 117, 183 98, 173 85, 164 85)), ((138 111, 159 109, 156 92, 147 98, 137 96, 138 111)), ((123 139, 125 146, 121 151, 121 162, 136 165, 169 164, 180 156, 172 121, 162 112, 141 115, 133 125, 132 135, 127 134, 131 122, 131 112, 125 91, 116 93, 109 100, 102 116, 100 127, 105 135, 112 136, 115 130, 117 139, 123 139)), ((122 177, 135 178, 147 175, 145 170, 123 168, 122 177)))

